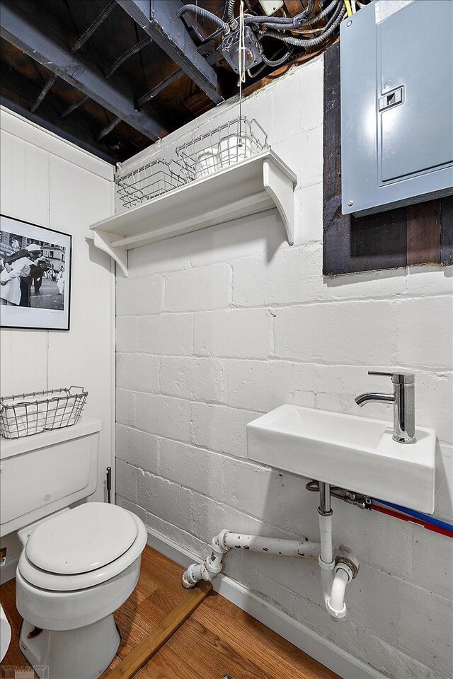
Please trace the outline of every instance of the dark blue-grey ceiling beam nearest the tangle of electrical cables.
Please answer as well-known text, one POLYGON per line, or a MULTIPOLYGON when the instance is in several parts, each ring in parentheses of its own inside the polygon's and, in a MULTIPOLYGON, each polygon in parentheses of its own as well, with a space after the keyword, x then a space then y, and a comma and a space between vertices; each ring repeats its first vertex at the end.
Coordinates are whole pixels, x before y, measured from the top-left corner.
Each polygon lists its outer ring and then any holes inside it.
POLYGON ((197 46, 178 18, 180 0, 117 0, 214 103, 224 100, 218 91, 217 73, 197 51, 197 46))

